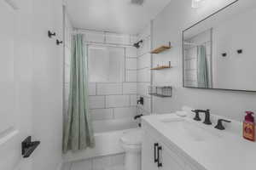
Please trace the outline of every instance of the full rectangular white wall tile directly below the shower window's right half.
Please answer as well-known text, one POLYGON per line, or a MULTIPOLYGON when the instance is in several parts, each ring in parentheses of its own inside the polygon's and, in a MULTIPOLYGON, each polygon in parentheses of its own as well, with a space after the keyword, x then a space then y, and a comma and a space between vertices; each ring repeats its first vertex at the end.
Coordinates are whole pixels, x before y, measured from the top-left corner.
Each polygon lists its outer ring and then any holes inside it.
POLYGON ((121 83, 97 83, 97 95, 122 94, 121 83))

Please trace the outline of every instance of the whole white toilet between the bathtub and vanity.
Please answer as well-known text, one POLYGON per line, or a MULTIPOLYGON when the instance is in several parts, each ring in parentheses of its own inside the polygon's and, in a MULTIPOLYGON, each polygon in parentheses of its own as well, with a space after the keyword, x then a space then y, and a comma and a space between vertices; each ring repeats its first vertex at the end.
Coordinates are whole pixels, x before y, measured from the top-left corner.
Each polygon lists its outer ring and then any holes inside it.
POLYGON ((125 150, 125 170, 141 170, 143 131, 132 129, 124 134, 120 143, 125 150))

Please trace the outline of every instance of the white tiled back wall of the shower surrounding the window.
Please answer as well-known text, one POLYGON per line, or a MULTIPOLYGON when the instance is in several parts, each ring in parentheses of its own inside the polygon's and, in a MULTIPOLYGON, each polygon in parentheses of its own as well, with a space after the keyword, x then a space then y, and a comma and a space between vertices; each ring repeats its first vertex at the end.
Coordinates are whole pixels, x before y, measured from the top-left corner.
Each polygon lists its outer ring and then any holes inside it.
POLYGON ((137 114, 137 48, 123 44, 132 44, 135 37, 104 32, 88 32, 84 37, 88 43, 124 48, 125 55, 123 82, 90 82, 92 119, 132 118, 137 114))

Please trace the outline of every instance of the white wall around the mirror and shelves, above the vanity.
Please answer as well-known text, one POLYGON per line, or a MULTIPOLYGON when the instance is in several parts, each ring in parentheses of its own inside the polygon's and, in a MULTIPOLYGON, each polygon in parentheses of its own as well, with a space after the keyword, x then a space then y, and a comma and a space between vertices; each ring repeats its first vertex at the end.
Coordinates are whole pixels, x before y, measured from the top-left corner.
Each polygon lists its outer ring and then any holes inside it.
MULTIPOLYGON (((154 83, 167 83, 173 86, 171 99, 154 98, 154 111, 171 112, 180 109, 182 105, 189 105, 194 108, 211 109, 214 114, 241 121, 244 111, 256 110, 255 93, 182 88, 182 31, 230 2, 232 1, 206 1, 201 8, 191 8, 191 0, 173 0, 156 17, 153 29, 154 47, 171 41, 173 48, 165 54, 159 54, 157 58, 154 57, 154 63, 167 59, 172 61, 174 67, 154 75, 154 83)), ((250 0, 239 1, 236 5, 246 2, 250 0)))

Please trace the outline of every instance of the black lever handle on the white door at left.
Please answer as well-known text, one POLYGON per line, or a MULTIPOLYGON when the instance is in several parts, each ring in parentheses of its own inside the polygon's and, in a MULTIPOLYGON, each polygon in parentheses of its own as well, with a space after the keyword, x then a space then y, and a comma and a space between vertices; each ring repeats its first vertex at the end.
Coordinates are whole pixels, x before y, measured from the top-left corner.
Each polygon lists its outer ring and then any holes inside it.
POLYGON ((27 137, 22 143, 21 143, 21 155, 24 158, 27 158, 32 155, 32 152, 36 150, 38 145, 40 144, 39 141, 32 142, 32 137, 27 137))

